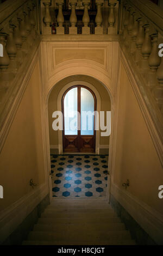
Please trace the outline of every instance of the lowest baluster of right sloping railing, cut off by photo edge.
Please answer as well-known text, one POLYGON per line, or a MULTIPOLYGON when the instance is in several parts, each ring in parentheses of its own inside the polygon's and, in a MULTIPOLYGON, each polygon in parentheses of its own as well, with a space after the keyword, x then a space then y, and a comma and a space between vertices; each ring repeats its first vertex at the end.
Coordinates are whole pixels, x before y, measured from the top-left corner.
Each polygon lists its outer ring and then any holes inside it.
POLYGON ((161 58, 161 64, 158 68, 156 77, 158 79, 158 84, 153 88, 153 94, 159 105, 161 113, 163 114, 163 58, 161 58))

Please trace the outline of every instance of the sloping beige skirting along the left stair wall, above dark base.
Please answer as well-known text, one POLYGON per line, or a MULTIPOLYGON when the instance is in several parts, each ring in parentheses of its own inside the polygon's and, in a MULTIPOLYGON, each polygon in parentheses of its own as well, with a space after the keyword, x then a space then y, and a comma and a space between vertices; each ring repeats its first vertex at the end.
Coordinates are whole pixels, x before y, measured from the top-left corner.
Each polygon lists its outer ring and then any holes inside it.
POLYGON ((41 184, 32 192, 0 212, 0 245, 49 193, 48 185, 41 184))

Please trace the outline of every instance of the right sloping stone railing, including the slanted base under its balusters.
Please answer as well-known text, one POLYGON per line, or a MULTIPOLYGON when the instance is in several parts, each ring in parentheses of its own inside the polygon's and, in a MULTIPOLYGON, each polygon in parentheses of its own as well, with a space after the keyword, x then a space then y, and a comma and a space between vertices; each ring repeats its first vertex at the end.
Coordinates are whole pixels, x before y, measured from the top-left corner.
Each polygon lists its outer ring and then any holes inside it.
POLYGON ((163 11, 148 0, 123 0, 120 45, 163 142, 163 11))

